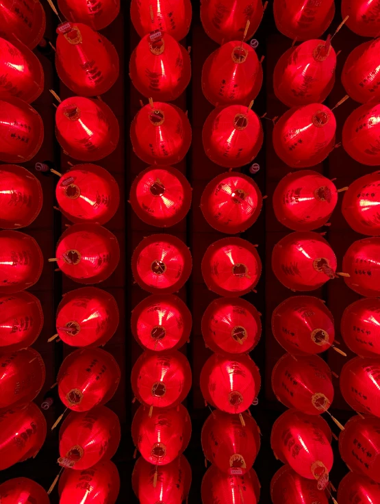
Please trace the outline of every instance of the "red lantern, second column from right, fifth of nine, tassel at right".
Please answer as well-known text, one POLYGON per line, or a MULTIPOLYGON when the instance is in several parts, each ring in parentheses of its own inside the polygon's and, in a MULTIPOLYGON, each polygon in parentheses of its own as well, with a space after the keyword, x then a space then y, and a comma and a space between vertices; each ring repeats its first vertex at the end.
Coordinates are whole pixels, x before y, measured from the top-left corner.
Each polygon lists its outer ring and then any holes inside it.
POLYGON ((336 257, 320 234, 298 231, 275 245, 272 269, 288 289, 315 290, 335 278, 336 257))

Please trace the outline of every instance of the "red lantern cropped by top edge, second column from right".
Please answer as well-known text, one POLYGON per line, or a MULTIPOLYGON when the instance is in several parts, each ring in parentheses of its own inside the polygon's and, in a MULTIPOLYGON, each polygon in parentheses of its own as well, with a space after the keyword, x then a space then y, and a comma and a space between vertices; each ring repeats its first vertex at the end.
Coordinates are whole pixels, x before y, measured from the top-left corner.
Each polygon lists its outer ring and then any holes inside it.
POLYGON ((335 14, 334 0, 275 0, 275 23, 281 34, 297 40, 320 37, 335 14))

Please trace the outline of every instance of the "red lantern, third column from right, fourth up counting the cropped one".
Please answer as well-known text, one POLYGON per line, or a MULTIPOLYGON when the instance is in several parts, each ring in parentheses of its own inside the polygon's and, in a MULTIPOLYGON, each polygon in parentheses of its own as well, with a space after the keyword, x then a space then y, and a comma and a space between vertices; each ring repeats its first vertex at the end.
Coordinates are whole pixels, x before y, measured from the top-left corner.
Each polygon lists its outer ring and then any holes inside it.
POLYGON ((249 353, 262 335, 260 314, 245 299, 215 299, 203 314, 202 335, 215 353, 249 353))

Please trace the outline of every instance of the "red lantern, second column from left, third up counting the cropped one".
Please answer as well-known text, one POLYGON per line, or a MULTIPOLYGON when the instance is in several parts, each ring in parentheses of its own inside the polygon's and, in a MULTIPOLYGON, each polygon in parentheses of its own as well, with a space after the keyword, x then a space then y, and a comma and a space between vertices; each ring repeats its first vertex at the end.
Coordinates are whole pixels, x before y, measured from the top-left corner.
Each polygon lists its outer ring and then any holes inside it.
POLYGON ((79 349, 61 364, 58 394, 69 409, 87 412, 110 401, 120 376, 120 368, 110 353, 101 349, 79 349))

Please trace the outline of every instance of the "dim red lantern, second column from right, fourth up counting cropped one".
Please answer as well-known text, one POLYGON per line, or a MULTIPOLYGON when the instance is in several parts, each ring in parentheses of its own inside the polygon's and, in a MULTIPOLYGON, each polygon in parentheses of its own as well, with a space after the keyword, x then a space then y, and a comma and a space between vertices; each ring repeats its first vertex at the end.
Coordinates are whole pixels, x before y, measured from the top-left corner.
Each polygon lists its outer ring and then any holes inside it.
POLYGON ((272 314, 272 331, 283 349, 292 355, 313 355, 334 342, 333 315, 325 303, 312 296, 293 296, 272 314))

